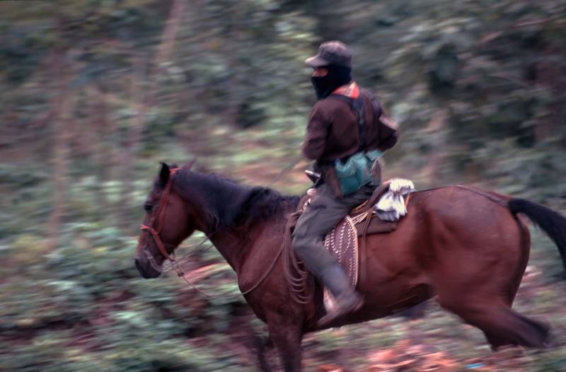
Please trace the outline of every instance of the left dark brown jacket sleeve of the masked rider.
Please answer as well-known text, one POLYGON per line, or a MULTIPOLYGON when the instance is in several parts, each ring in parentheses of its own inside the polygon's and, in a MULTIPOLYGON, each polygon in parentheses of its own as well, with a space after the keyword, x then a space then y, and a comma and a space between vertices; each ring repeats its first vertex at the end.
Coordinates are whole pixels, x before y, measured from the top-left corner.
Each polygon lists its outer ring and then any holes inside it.
POLYGON ((302 152, 305 158, 317 160, 322 156, 330 130, 330 115, 318 103, 313 107, 311 117, 306 126, 306 138, 303 142, 302 152))

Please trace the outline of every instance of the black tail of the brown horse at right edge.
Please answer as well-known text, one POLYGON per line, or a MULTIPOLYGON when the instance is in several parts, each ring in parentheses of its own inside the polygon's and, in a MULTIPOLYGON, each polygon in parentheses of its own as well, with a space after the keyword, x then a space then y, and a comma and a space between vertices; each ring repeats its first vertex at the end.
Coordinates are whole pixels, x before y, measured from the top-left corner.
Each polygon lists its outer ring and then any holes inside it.
POLYGON ((513 214, 522 213, 542 229, 554 241, 562 257, 562 266, 566 270, 566 217, 540 204, 524 199, 511 199, 507 207, 513 214))

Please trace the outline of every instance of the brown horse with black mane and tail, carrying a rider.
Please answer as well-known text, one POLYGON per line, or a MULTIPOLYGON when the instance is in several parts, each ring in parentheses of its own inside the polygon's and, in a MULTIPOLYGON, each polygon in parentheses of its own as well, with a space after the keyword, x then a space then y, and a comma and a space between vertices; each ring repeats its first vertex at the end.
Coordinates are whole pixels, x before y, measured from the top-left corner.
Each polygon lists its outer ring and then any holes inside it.
MULTIPOLYGON (((144 278, 195 230, 207 234, 238 275, 255 315, 267 323, 285 371, 301 370, 301 338, 316 331, 316 301, 291 300, 281 255, 287 216, 299 197, 239 185, 190 165, 163 164, 146 199, 135 265, 144 278)), ((480 328, 492 347, 545 347, 549 327, 511 309, 529 260, 525 214, 558 245, 566 265, 566 219, 538 204, 471 187, 412 194, 393 233, 367 237, 364 306, 333 326, 391 315, 436 296, 480 328)))

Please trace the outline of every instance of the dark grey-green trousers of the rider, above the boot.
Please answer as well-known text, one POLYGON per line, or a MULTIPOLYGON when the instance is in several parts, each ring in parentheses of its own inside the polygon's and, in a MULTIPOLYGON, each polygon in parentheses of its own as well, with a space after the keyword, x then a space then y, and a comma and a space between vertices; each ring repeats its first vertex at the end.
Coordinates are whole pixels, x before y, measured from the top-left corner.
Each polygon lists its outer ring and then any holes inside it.
POLYGON ((324 248, 324 237, 352 208, 369 199, 374 190, 375 186, 367 185, 337 199, 328 185, 317 188, 316 196, 296 223, 293 248, 318 279, 323 276, 325 269, 337 265, 334 256, 324 248))

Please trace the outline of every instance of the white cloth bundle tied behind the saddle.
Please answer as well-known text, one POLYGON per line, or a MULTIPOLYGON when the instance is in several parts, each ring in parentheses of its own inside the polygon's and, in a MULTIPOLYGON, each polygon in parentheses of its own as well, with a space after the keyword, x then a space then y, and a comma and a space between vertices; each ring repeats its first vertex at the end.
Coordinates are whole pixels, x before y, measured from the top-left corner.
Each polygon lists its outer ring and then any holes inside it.
POLYGON ((398 221, 407 214, 405 195, 415 191, 412 181, 403 178, 393 178, 389 182, 389 190, 383 194, 374 206, 377 216, 383 221, 398 221))

